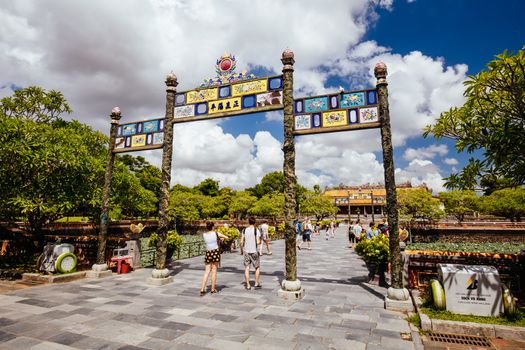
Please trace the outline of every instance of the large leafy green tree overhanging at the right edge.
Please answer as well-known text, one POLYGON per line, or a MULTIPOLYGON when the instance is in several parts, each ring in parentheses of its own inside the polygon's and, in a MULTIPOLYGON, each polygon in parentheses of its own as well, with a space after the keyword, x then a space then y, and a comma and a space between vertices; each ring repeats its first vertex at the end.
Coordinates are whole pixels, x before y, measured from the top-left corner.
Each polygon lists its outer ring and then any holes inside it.
POLYGON ((474 189, 478 184, 510 180, 525 183, 525 47, 516 55, 507 51, 488 64, 488 70, 465 82, 466 102, 440 115, 424 136, 450 138, 456 149, 481 150, 481 159, 471 158, 458 174, 446 180, 448 188, 474 189))

